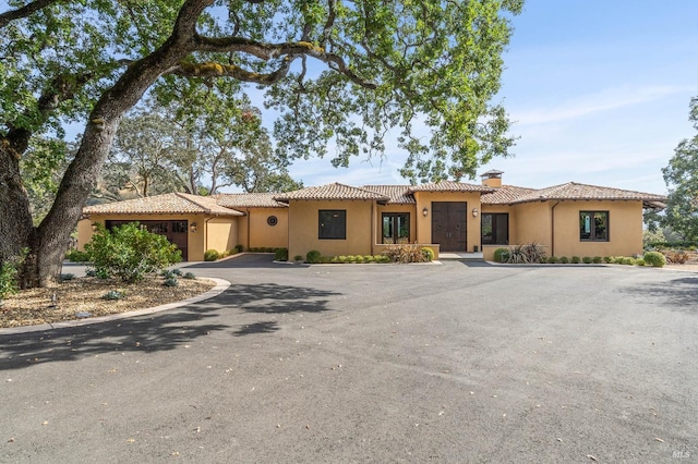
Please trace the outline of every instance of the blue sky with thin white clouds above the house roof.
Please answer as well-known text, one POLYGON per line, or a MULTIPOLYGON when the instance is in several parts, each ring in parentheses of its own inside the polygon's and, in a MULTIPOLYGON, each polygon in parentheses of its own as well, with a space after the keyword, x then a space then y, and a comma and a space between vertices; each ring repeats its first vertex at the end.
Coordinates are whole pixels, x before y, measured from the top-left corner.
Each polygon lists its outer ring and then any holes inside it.
MULTIPOLYGON (((664 194, 662 168, 695 135, 688 103, 698 96, 696 0, 527 0, 513 19, 502 102, 519 137, 509 158, 478 174, 542 188, 566 182, 664 194)), ((388 143, 383 162, 296 161, 305 186, 406 184, 405 155, 388 143)), ((480 178, 464 180, 479 183, 480 178)))

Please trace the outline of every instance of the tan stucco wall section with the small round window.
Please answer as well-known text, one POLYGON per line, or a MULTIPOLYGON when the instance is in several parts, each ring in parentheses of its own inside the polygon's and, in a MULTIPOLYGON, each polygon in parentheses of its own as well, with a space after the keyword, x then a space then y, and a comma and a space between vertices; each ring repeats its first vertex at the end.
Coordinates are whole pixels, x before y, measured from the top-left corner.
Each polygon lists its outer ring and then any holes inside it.
POLYGON ((240 218, 238 234, 244 249, 272 247, 288 248, 288 208, 248 208, 241 209, 248 216, 240 218), (267 224, 269 216, 276 216, 278 223, 267 224))

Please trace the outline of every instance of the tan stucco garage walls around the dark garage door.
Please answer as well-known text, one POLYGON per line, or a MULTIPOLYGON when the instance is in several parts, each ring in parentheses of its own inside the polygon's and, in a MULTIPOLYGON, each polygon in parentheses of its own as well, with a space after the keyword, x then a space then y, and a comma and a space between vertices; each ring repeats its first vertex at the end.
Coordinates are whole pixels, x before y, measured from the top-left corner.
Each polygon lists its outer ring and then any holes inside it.
MULTIPOLYGON (((205 215, 91 215, 88 219, 83 219, 77 223, 77 249, 84 251, 85 244, 92 240, 92 224, 105 224, 108 220, 118 221, 177 221, 185 220, 189 225, 196 222, 196 232, 188 228, 188 259, 190 261, 202 261, 204 252, 215 246, 221 246, 220 252, 230 249, 228 243, 234 242, 232 235, 237 233, 238 217, 226 216, 218 218, 207 218, 205 215), (206 221, 208 220, 208 223, 206 221), (209 225, 213 229, 209 230, 209 225), (212 231, 214 235, 212 235, 212 231), (220 235, 220 236, 218 236, 220 235), (209 243, 213 240, 213 243, 209 243), (225 247, 224 247, 225 246, 225 247)), ((218 248, 216 248, 218 249, 218 248)))

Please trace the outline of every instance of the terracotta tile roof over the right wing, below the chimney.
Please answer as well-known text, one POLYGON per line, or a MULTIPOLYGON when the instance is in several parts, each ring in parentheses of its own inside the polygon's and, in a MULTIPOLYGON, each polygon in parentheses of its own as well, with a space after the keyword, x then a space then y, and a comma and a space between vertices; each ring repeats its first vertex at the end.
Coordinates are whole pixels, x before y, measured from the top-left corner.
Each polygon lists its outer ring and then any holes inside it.
POLYGON ((503 185, 494 193, 482 196, 483 204, 520 204, 545 200, 642 200, 647 207, 661 207, 666 202, 664 195, 624 191, 598 185, 568 182, 546 188, 525 188, 503 185))

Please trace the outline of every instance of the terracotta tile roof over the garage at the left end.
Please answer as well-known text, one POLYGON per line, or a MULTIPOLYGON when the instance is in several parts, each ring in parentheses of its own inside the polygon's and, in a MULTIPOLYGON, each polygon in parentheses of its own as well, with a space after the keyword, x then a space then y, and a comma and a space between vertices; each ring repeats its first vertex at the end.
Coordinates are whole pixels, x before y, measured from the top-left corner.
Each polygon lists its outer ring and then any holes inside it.
POLYGON ((214 216, 243 216, 242 212, 216 204, 209 196, 170 193, 124 202, 93 205, 83 208, 84 215, 139 215, 139 213, 204 213, 214 216))

